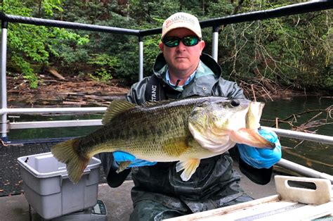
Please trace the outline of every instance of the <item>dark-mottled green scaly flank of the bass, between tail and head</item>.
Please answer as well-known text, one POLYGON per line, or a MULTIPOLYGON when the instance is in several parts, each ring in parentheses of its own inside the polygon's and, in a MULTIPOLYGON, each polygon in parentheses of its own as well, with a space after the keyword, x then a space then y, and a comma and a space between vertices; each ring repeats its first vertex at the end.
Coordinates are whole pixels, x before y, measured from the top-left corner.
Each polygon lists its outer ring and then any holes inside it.
POLYGON ((167 156, 181 152, 178 144, 190 136, 184 112, 190 114, 195 103, 176 106, 137 106, 120 113, 105 127, 79 139, 79 151, 93 156, 100 151, 126 151, 144 160, 169 161, 167 156), (94 146, 91 149, 91 146, 94 146), (155 151, 152 152, 152 146, 155 151), (167 146, 164 149, 164 146, 167 146), (172 148, 174 147, 174 148, 172 148), (174 151, 171 151, 174 149, 174 151))

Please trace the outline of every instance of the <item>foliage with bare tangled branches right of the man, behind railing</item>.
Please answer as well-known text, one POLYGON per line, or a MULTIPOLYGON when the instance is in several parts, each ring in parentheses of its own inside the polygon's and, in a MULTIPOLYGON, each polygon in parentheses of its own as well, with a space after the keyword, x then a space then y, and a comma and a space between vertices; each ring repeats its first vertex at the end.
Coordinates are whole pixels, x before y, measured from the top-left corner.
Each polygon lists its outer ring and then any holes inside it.
MULTIPOLYGON (((239 13, 285 4, 291 3, 244 1, 239 13)), ((297 89, 332 89, 327 77, 332 65, 332 42, 327 40, 327 36, 332 38, 329 20, 332 13, 320 11, 226 25, 221 29, 218 55, 224 77, 264 77, 297 89)))

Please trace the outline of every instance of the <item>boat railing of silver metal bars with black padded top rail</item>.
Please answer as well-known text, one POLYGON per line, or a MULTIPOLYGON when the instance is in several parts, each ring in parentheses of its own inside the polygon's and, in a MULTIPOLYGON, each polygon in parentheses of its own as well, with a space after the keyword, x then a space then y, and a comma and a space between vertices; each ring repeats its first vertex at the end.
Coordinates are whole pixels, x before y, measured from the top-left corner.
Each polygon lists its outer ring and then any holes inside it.
MULTIPOLYGON (((233 23, 243 23, 254 20, 264 20, 269 18, 278 18, 286 15, 296 15, 301 13, 308 13, 313 11, 322 11, 333 8, 332 0, 322 1, 308 1, 300 4, 291 4, 288 6, 282 6, 279 8, 273 8, 262 11, 252 11, 249 13, 240 13, 236 15, 228 15, 221 18, 213 18, 209 20, 200 21, 202 28, 212 27, 212 46, 211 56, 217 61, 218 56, 218 30, 222 25, 228 25, 233 23)), ((0 133, 1 141, 8 142, 8 131, 15 129, 27 129, 27 128, 42 128, 42 127, 75 127, 75 126, 91 126, 102 125, 101 120, 53 120, 53 121, 34 121, 34 122, 10 122, 8 120, 8 114, 27 114, 27 113, 103 113, 106 108, 92 107, 92 108, 8 108, 7 106, 7 83, 6 83, 6 53, 7 53, 7 30, 8 23, 24 23, 29 25, 41 25, 48 27, 63 27, 73 30, 88 30, 91 32, 107 32, 110 34, 125 34, 138 37, 138 80, 143 79, 143 40, 145 36, 160 34, 161 28, 155 28, 150 30, 132 30, 119 27, 108 27, 103 25, 87 25, 82 23, 72 23, 60 20, 48 20, 42 18, 22 17, 19 15, 7 15, 0 12, 1 20, 1 91, 0 91, 0 133)), ((311 141, 322 142, 326 144, 333 144, 333 137, 309 134, 303 132, 294 132, 292 130, 274 130, 278 135, 282 137, 292 137, 296 139, 306 139, 311 141)), ((290 167, 292 170, 301 168, 303 166, 295 166, 292 162, 282 159, 279 162, 284 167, 290 167), (296 167, 296 168, 295 168, 296 167)), ((305 167, 304 167, 305 168, 305 167)), ((331 175, 322 174, 317 171, 308 171, 301 168, 301 172, 304 175, 311 177, 328 177, 333 182, 331 175)))

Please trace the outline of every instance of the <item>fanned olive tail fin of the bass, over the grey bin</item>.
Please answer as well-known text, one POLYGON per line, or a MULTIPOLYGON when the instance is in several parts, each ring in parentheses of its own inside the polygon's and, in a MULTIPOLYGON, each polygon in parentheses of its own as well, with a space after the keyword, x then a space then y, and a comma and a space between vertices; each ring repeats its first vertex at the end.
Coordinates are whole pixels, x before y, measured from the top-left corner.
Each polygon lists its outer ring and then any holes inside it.
POLYGON ((51 147, 53 156, 61 163, 66 164, 68 177, 70 177, 70 180, 74 184, 79 182, 79 179, 81 178, 81 175, 90 159, 88 156, 84 158, 79 155, 77 152, 78 145, 78 139, 70 139, 51 147))

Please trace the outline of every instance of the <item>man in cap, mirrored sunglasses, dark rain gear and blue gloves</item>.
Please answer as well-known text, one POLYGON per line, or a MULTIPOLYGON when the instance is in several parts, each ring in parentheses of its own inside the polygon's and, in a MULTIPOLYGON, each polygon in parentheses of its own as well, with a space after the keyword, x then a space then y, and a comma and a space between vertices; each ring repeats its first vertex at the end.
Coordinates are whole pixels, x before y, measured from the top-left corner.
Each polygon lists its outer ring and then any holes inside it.
MULTIPOLYGON (((205 43, 195 16, 171 15, 163 23, 161 39, 162 53, 157 56, 154 74, 131 87, 129 101, 141 105, 145 101, 187 96, 244 98, 235 82, 223 80, 218 63, 202 53, 205 43)), ((230 152, 235 152, 240 170, 247 177, 267 184, 273 165, 281 158, 281 147, 275 133, 267 130, 259 133, 273 141, 276 148, 256 149, 238 144, 230 152)), ((123 152, 102 153, 100 158, 111 187, 118 187, 129 175, 130 170, 115 172, 118 163, 133 162, 130 166, 135 184, 131 191, 134 208, 131 220, 161 220, 252 200, 240 187, 240 176, 232 168, 229 152, 202 159, 187 182, 176 173, 176 162, 148 162, 123 152)))

